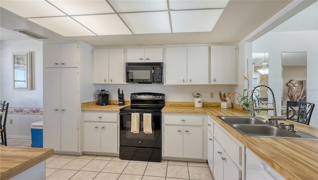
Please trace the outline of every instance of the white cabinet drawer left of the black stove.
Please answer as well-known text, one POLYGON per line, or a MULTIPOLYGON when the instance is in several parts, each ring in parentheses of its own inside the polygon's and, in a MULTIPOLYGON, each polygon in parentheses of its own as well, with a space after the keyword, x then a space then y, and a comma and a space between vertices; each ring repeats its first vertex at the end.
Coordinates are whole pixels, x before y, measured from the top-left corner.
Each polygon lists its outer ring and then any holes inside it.
POLYGON ((85 112, 84 121, 117 122, 117 113, 85 112))

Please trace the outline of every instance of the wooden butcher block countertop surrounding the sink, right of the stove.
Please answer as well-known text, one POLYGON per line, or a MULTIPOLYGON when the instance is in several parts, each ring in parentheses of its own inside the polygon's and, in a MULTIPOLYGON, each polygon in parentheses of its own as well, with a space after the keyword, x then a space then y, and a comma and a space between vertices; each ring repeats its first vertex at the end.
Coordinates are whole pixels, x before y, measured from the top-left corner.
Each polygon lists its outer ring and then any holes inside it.
MULTIPOLYGON (((82 110, 87 109, 82 108, 82 110)), ((173 104, 170 102, 165 104, 162 112, 207 114, 285 179, 318 180, 318 140, 243 136, 217 116, 250 116, 251 114, 237 107, 221 108, 220 103, 218 106, 211 103, 203 104, 203 107, 194 107, 193 103, 173 104)), ((261 117, 270 118, 268 115, 261 117)), ((318 128, 289 120, 280 122, 294 123, 296 129, 318 136, 318 128)))

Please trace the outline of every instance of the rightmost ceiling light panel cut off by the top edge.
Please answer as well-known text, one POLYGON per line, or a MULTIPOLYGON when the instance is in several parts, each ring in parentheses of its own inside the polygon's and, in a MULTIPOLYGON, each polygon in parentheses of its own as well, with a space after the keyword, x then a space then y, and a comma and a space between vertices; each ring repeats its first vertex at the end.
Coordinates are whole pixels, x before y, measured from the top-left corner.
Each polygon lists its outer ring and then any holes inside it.
POLYGON ((229 0, 169 0, 170 9, 225 8, 229 0))

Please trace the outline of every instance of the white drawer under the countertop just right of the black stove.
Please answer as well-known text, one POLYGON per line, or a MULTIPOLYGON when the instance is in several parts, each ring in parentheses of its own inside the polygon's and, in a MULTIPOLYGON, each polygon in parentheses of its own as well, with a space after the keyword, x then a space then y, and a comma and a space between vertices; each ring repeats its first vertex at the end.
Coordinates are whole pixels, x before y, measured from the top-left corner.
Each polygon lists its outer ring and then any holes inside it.
POLYGON ((174 116, 174 115, 164 116, 164 124, 202 126, 202 121, 203 121, 202 116, 174 116))

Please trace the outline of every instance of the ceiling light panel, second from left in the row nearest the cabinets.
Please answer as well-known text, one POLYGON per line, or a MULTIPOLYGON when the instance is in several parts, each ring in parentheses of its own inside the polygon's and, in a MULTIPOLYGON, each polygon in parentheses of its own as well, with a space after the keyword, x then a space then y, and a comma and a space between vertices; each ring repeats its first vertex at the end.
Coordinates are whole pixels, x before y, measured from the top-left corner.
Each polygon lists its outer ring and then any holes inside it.
POLYGON ((117 14, 72 17, 97 35, 132 34, 117 14))

